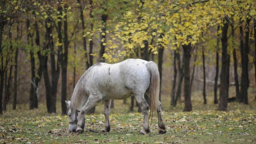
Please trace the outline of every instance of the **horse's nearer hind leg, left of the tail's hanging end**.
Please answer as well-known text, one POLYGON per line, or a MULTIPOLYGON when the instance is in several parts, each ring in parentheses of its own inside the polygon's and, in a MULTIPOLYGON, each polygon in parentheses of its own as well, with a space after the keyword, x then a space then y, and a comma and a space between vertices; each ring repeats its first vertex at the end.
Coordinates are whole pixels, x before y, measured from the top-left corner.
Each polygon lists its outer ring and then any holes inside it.
POLYGON ((136 101, 140 105, 140 108, 142 110, 142 113, 144 114, 144 120, 143 120, 143 128, 140 130, 139 134, 147 134, 150 132, 149 130, 149 124, 148 124, 148 104, 144 98, 144 94, 141 95, 134 95, 136 98, 136 101))

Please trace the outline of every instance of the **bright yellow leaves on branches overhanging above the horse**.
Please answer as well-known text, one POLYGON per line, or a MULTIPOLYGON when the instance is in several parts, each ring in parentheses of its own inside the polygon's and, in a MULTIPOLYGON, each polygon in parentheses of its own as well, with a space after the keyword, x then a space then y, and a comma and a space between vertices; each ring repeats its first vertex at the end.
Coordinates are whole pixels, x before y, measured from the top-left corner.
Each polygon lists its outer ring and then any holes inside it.
MULTIPOLYGON (((92 34, 110 35, 109 40, 104 40, 107 60, 129 56, 134 50, 144 48, 146 43, 152 52, 157 53, 158 47, 176 49, 181 44, 204 42, 202 33, 212 26, 223 25, 225 18, 234 22, 245 20, 249 14, 256 16, 255 0, 145 0, 143 3, 132 2, 132 5, 121 17, 108 21, 107 26, 114 26, 112 29, 106 32, 101 32, 101 28, 92 30, 92 34), (160 35, 164 37, 160 38, 160 35), (156 46, 152 43, 153 38, 156 46)), ((221 32, 219 30, 218 34, 221 32)))

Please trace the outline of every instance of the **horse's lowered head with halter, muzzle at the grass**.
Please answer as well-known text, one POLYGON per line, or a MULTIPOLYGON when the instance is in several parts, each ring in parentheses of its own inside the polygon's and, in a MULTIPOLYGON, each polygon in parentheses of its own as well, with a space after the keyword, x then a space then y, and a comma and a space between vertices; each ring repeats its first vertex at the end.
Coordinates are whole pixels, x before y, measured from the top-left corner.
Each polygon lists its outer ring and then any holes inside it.
MULTIPOLYGON (((70 101, 65 101, 67 104, 67 116, 68 116, 68 130, 70 132, 76 132, 76 127, 77 127, 77 122, 78 122, 78 118, 80 117, 80 111, 76 110, 75 112, 72 110, 71 106, 70 106, 70 101)), ((85 119, 85 118, 84 118, 85 119)), ((84 122, 82 125, 82 129, 84 129, 84 122)))

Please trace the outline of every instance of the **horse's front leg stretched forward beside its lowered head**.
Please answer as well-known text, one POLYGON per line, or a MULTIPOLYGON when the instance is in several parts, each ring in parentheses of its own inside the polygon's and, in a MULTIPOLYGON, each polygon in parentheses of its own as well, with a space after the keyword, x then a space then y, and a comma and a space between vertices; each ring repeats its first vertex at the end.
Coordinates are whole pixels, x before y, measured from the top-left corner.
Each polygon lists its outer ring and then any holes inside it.
POLYGON ((76 128, 76 133, 82 133, 84 132, 83 130, 83 121, 84 121, 84 116, 90 110, 93 108, 96 104, 98 104, 101 101, 99 96, 95 95, 90 95, 88 97, 87 102, 84 104, 84 106, 81 109, 81 114, 77 122, 77 128, 76 128))

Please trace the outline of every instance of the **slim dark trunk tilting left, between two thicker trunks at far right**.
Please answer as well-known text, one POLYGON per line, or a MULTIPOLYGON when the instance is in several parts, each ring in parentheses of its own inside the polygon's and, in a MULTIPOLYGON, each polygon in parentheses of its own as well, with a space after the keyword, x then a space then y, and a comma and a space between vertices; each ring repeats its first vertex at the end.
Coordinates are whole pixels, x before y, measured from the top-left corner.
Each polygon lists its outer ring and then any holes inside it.
MULTIPOLYGON (((234 44, 235 38, 234 38, 234 26, 232 25, 232 41, 234 44)), ((236 58, 236 48, 233 50, 233 58, 234 58, 234 73, 235 73, 235 82, 236 82, 236 99, 239 100, 240 92, 239 92, 239 82, 238 82, 238 74, 237 74, 237 58, 236 58)))

